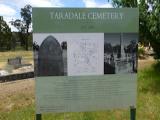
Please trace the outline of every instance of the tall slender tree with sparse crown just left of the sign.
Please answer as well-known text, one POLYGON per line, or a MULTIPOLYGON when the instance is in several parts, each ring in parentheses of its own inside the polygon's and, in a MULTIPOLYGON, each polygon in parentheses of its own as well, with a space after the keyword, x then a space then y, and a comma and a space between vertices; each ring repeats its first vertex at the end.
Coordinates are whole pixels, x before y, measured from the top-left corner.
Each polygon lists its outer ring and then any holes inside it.
POLYGON ((21 8, 21 17, 23 19, 24 26, 26 28, 25 47, 26 47, 26 50, 28 50, 29 28, 32 20, 32 7, 30 5, 26 5, 24 8, 21 8))

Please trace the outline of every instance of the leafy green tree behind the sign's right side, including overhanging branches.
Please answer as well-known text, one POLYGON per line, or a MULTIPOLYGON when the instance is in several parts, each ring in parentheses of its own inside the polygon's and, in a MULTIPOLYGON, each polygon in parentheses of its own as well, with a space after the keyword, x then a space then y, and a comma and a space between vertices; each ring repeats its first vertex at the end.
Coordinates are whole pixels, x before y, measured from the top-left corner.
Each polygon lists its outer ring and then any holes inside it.
POLYGON ((151 43, 155 58, 160 58, 160 1, 113 0, 115 7, 139 7, 140 42, 151 43))

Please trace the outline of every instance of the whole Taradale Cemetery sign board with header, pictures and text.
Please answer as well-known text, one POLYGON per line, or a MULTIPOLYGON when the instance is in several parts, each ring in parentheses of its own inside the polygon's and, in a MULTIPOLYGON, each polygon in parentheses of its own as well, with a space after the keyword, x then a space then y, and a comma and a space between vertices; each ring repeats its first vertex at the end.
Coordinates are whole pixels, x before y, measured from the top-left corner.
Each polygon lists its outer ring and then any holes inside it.
POLYGON ((33 8, 36 112, 136 106, 137 8, 33 8))

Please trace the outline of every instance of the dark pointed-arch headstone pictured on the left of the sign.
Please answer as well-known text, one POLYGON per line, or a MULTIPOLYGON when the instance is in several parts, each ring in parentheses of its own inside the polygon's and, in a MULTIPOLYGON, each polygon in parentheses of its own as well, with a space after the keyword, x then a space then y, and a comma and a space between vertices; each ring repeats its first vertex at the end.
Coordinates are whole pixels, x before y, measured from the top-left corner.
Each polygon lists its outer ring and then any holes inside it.
POLYGON ((48 36, 41 44, 38 52, 38 76, 63 76, 62 48, 59 42, 48 36))

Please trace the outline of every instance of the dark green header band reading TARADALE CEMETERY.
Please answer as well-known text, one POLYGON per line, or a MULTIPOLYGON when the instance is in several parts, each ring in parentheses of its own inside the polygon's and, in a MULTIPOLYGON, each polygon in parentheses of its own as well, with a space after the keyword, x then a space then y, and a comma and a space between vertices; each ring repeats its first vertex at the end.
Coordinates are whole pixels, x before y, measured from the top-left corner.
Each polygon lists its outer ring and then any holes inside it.
POLYGON ((138 9, 33 8, 35 33, 138 32, 138 9))

